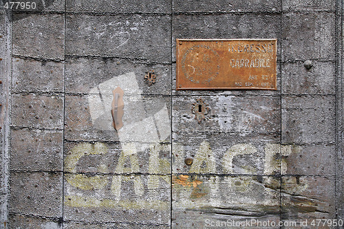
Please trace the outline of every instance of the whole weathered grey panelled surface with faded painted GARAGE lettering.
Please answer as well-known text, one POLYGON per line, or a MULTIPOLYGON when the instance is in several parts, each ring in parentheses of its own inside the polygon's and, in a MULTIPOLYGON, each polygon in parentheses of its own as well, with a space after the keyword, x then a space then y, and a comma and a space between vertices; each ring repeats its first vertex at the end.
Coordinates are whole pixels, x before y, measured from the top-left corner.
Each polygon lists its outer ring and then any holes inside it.
POLYGON ((1 10, 1 228, 343 220, 341 0, 36 3, 1 10), (196 38, 277 39, 277 91, 175 91, 196 38))

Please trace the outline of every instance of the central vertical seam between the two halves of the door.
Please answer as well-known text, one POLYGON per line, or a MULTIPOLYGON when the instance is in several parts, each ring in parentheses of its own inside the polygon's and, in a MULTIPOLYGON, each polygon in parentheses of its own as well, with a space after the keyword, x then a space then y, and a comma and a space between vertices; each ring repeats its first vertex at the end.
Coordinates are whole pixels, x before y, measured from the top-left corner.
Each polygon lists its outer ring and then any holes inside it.
POLYGON ((170 195, 171 195, 171 210, 170 210, 170 228, 172 228, 172 177, 173 177, 173 0, 171 0, 171 184, 170 184, 170 195))

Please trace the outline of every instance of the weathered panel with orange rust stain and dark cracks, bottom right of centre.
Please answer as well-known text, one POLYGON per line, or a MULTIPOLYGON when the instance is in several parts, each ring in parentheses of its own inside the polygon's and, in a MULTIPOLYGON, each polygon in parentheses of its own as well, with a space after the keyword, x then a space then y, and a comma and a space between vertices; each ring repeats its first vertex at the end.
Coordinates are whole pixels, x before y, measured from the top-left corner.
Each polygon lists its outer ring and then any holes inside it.
POLYGON ((233 221, 279 221, 279 185, 278 177, 173 175, 172 226, 231 228, 233 221))

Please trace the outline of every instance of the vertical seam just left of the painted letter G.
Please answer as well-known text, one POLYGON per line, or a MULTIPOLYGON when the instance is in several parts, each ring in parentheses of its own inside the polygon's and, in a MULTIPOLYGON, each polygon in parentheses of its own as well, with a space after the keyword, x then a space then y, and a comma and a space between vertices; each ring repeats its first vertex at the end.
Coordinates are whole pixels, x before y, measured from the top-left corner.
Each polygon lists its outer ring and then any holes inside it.
MULTIPOLYGON (((64 1, 64 11, 66 12, 66 1, 64 1)), ((65 29, 66 29, 66 26, 65 26, 65 23, 66 23, 66 13, 63 12, 63 23, 64 23, 64 27, 63 27, 63 37, 64 37, 64 40, 63 40, 63 140, 62 140, 62 215, 61 215, 61 228, 63 228, 63 222, 65 220, 65 217, 64 217, 64 209, 65 209, 65 182, 64 182, 64 178, 65 178, 65 62, 66 62, 66 54, 65 54, 65 40, 66 40, 66 37, 65 37, 65 29)))

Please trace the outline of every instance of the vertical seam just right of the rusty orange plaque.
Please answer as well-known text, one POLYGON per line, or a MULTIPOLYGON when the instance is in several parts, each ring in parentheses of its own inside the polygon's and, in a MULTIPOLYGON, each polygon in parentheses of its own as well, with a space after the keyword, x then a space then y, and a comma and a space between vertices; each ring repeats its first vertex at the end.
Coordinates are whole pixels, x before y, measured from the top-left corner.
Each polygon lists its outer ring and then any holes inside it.
POLYGON ((283 217, 282 217, 282 80, 283 80, 283 76, 282 76, 282 16, 283 16, 283 0, 281 0, 280 2, 280 7, 281 7, 281 13, 280 13, 280 28, 279 28, 279 58, 280 58, 280 67, 279 67, 279 73, 281 76, 281 80, 280 80, 280 91, 279 91, 279 96, 280 96, 280 113, 279 113, 279 120, 280 120, 280 142, 279 142, 279 220, 283 221, 283 217))

